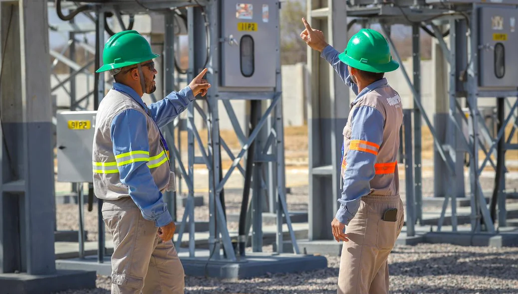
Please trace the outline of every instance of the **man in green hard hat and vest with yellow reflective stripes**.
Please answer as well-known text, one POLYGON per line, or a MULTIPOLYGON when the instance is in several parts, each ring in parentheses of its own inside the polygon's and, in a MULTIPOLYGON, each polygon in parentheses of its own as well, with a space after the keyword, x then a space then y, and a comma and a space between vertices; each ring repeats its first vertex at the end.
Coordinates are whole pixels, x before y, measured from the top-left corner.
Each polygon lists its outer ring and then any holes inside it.
POLYGON ((142 96, 156 90, 158 56, 138 32, 124 31, 108 39, 97 70, 115 81, 100 101, 93 142, 94 193, 113 237, 112 293, 184 292, 171 240, 176 226, 163 197, 175 190, 176 178, 161 128, 210 84, 204 69, 181 91, 147 105, 142 96))

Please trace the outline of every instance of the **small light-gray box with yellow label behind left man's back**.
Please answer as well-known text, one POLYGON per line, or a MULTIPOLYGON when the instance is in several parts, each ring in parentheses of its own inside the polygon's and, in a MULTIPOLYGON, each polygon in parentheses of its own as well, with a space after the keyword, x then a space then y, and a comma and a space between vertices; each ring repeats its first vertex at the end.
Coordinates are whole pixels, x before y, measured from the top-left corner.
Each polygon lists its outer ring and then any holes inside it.
POLYGON ((96 111, 56 114, 57 181, 91 183, 96 111))

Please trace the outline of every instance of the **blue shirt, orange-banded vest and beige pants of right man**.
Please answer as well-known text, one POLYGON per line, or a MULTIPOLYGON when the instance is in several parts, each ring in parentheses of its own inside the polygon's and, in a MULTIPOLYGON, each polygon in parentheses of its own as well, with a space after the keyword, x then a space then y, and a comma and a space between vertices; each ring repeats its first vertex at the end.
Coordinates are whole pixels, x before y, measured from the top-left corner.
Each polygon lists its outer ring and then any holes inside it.
POLYGON ((385 78, 358 93, 338 51, 327 46, 321 57, 357 95, 343 128, 343 190, 335 217, 346 225, 349 242, 342 247, 337 292, 388 293, 387 258, 404 224, 396 162, 401 98, 385 78), (385 211, 393 208, 396 222, 383 220, 385 211))

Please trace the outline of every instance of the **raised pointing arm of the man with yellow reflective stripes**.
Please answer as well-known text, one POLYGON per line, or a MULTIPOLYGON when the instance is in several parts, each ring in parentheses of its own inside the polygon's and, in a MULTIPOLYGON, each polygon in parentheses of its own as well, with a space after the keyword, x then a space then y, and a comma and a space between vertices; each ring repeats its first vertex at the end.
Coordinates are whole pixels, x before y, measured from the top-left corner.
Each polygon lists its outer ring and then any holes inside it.
POLYGON ((153 120, 159 127, 163 127, 175 120, 176 117, 194 101, 196 95, 202 94, 202 96, 205 96, 205 94, 207 94, 210 84, 207 80, 203 79, 206 73, 207 68, 202 70, 202 72, 180 92, 171 92, 164 99, 148 106, 153 120))

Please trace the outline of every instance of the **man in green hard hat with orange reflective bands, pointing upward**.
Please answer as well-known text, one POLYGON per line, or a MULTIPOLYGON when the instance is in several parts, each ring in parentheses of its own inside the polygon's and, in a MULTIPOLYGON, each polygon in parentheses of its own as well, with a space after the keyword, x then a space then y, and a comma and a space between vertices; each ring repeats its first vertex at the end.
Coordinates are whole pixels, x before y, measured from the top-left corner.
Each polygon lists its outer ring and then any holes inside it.
POLYGON ((388 293, 387 259, 404 223, 396 161, 403 113, 401 97, 384 74, 399 64, 375 30, 360 30, 340 53, 303 23, 300 37, 356 94, 342 132, 343 187, 331 222, 335 240, 344 241, 337 293, 388 293))

